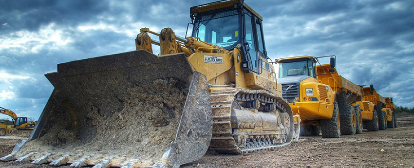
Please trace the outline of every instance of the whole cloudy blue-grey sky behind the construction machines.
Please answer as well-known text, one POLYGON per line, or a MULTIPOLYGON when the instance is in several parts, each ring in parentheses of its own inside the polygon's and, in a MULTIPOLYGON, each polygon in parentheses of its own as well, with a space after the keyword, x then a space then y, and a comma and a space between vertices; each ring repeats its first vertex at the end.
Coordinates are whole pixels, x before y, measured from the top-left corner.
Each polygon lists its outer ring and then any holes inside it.
MULTIPOLYGON (((0 0, 0 106, 37 119, 56 64, 132 51, 142 27, 184 37, 189 7, 211 1, 0 0)), ((336 55, 340 75, 414 107, 414 0, 245 2, 263 17, 273 60, 336 55)))

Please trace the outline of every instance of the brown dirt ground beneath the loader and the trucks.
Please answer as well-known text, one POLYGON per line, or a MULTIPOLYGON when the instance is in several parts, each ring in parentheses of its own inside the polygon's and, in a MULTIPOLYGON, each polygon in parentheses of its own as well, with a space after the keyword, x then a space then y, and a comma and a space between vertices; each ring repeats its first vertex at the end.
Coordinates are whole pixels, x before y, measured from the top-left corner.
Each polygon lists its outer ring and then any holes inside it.
MULTIPOLYGON (((397 118, 399 127, 395 129, 364 130, 337 139, 301 137, 299 142, 250 155, 207 151, 201 159, 181 168, 414 168, 414 114, 399 114, 397 118)), ((14 135, 0 137, 0 157, 10 153, 18 139, 14 135)), ((0 162, 0 167, 55 168, 14 162, 0 162)))

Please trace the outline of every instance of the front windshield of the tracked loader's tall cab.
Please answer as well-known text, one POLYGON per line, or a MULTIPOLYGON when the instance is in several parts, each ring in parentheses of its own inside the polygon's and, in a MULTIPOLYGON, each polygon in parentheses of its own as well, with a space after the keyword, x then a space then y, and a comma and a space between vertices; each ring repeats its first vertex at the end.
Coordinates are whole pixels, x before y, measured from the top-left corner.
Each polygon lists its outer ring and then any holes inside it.
POLYGON ((197 17, 194 22, 194 37, 202 41, 227 48, 239 41, 239 16, 237 11, 227 11, 197 17))

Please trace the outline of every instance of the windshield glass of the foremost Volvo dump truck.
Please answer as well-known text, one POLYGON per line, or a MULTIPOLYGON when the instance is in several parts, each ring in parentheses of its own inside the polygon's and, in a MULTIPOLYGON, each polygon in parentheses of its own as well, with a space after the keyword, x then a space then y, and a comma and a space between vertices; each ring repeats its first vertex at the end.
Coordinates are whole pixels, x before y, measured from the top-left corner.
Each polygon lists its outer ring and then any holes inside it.
MULTIPOLYGON (((312 62, 312 61, 309 61, 312 62)), ((297 61, 297 62, 281 62, 279 64, 279 77, 285 76, 297 76, 297 75, 309 75, 313 76, 313 64, 310 63, 307 66, 307 61, 297 61), (310 72, 310 73, 309 73, 310 72)))

